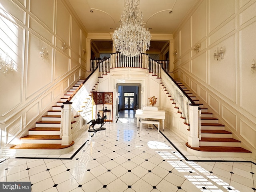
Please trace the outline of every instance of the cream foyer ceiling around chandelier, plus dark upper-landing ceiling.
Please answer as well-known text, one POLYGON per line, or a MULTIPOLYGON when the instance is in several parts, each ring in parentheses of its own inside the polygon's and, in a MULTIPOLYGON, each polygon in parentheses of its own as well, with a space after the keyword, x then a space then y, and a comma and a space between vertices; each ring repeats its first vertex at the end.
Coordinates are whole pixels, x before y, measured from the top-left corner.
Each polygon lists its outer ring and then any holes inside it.
MULTIPOLYGON (((88 33, 113 33, 120 27, 125 0, 67 0, 88 33)), ((140 0, 145 28, 151 34, 172 34, 198 0, 140 0)), ((160 50, 166 42, 152 42, 160 50)), ((96 43, 98 50, 110 49, 112 42, 96 43)))

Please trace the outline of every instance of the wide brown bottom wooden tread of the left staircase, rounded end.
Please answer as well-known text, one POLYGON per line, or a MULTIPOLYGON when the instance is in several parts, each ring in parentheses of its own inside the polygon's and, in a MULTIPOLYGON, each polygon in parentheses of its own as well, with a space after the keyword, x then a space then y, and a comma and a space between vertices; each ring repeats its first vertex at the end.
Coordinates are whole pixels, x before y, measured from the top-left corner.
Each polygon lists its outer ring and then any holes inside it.
POLYGON ((74 145, 74 143, 74 141, 70 145, 22 143, 11 147, 11 149, 64 149, 74 145))

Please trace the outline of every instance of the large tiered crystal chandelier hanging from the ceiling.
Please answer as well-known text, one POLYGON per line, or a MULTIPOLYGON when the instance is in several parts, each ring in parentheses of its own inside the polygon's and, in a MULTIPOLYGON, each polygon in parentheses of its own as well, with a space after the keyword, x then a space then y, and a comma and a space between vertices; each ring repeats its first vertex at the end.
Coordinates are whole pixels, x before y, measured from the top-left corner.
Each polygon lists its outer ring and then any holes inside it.
POLYGON ((150 47, 151 35, 144 26, 139 0, 126 0, 121 15, 122 25, 113 34, 116 51, 128 57, 145 52, 150 47))

